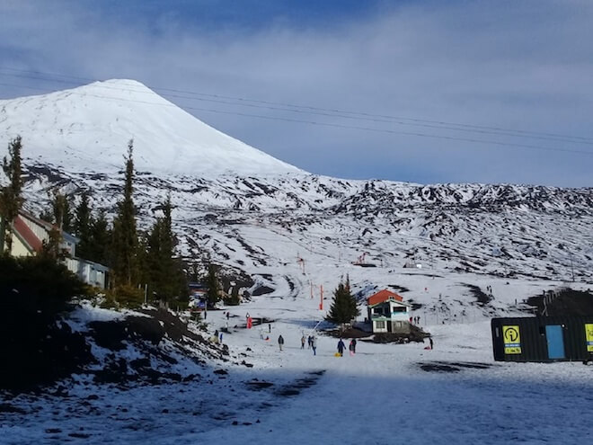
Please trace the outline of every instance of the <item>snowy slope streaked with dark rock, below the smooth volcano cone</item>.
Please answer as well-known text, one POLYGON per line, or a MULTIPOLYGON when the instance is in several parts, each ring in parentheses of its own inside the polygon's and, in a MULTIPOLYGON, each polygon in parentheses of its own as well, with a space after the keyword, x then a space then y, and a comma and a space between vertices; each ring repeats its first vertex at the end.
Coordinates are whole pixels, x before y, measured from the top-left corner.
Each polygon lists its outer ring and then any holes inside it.
MULTIPOLYGON (((28 180, 28 205, 37 211, 40 197, 61 184, 65 192, 92 191, 93 205, 112 212, 122 177, 38 166, 30 168, 28 180)), ((420 263, 416 272, 425 275, 593 280, 589 189, 426 187, 299 174, 216 179, 137 174, 141 227, 151 224, 168 192, 179 250, 189 262, 199 263, 206 254, 228 268, 265 276, 261 286, 280 296, 308 294, 309 282, 333 289, 346 273, 353 283, 394 284, 411 273, 403 269, 406 263, 420 263), (363 253, 375 268, 352 264, 363 253)))

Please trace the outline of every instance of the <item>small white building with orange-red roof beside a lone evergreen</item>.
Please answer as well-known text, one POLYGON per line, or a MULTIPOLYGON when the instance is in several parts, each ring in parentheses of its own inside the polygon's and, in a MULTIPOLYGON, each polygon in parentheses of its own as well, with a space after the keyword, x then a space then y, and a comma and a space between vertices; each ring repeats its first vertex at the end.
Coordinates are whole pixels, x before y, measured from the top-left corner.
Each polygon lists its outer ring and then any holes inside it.
POLYGON ((367 298, 373 333, 410 333, 410 309, 401 295, 383 289, 367 298))

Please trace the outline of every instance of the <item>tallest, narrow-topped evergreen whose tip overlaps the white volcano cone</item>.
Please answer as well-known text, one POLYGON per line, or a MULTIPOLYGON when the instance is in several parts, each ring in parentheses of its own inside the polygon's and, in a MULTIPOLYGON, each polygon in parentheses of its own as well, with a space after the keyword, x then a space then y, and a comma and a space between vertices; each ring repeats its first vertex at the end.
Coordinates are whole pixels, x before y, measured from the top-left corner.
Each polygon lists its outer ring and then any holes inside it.
POLYGON ((133 200, 134 183, 134 143, 128 142, 128 157, 126 157, 126 177, 124 197, 118 203, 118 213, 113 220, 113 236, 111 251, 113 254, 113 278, 116 286, 133 286, 137 282, 137 229, 136 207, 133 200))

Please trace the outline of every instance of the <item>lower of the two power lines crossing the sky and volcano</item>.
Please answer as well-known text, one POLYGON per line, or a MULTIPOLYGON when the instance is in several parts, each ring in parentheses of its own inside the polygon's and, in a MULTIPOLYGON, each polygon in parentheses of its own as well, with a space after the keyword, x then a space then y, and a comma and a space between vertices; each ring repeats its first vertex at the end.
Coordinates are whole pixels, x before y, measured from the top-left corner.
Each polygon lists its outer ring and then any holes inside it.
MULTIPOLYGON (((4 84, 4 83, 0 83, 0 85, 11 86, 11 87, 24 87, 24 88, 29 88, 29 89, 33 89, 33 90, 44 91, 43 88, 35 87, 35 86, 28 86, 28 85, 11 85, 11 84, 4 84)), ((111 88, 114 90, 128 91, 128 92, 137 92, 137 90, 133 90, 133 89, 123 89, 123 88, 115 88, 115 87, 107 87, 107 88, 111 88)), ((75 93, 75 94, 83 95, 86 97, 97 97, 100 99, 109 98, 111 100, 117 100, 117 101, 121 101, 121 102, 144 103, 144 104, 149 104, 149 105, 169 106, 169 107, 179 108, 179 107, 177 107, 177 105, 175 105, 173 103, 156 103, 156 102, 138 101, 138 100, 133 100, 133 99, 123 99, 123 98, 118 98, 118 97, 110 97, 110 96, 105 96, 105 95, 100 95, 100 94, 91 94, 91 93, 75 93)), ((293 122, 293 123, 304 123, 304 124, 321 126, 321 127, 331 127, 331 128, 339 128, 339 129, 358 129, 358 130, 362 130, 362 131, 394 134, 394 135, 400 135, 400 136, 412 136, 412 137, 418 137, 418 138, 436 138, 436 139, 443 139, 443 140, 473 142, 473 143, 477 143, 477 144, 489 144, 489 145, 495 145, 495 146, 499 146, 499 147, 518 147, 518 148, 529 148, 529 149, 535 149, 535 150, 557 151, 557 152, 564 152, 564 153, 578 153, 578 154, 585 154, 585 155, 593 155, 592 151, 572 149, 572 148, 542 147, 542 146, 534 146, 534 145, 529 145, 529 144, 501 142, 501 141, 494 141, 494 140, 487 140, 487 139, 460 138, 460 137, 455 137, 455 136, 420 133, 420 132, 412 132, 412 131, 399 131, 399 130, 393 130, 393 129, 375 129, 375 128, 370 128, 370 127, 345 125, 345 124, 330 123, 330 122, 320 122, 320 121, 315 121, 315 120, 298 120, 298 119, 284 118, 284 117, 278 117, 278 116, 265 116, 265 115, 261 115, 261 114, 243 113, 240 111, 222 111, 222 110, 198 108, 198 107, 184 107, 184 109, 192 110, 192 111, 214 112, 217 114, 228 114, 228 115, 235 115, 235 116, 242 116, 242 117, 252 117, 252 118, 258 118, 258 119, 265 119, 265 120, 278 120, 278 121, 293 122)))

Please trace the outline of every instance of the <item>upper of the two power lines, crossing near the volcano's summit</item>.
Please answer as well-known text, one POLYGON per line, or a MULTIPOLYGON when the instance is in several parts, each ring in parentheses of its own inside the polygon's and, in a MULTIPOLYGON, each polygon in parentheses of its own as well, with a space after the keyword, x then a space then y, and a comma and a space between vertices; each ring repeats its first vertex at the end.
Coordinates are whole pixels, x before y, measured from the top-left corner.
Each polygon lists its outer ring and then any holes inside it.
MULTIPOLYGON (((47 76, 58 76, 63 77, 66 79, 74 79, 75 81, 83 81, 83 82, 98 82, 98 79, 92 79, 89 77, 78 77, 78 76, 66 76, 54 73, 44 73, 41 71, 30 71, 30 70, 22 70, 16 69, 12 67, 0 67, 2 70, 9 70, 16 73, 29 73, 37 75, 35 77, 32 76, 25 76, 25 75, 11 75, 11 74, 4 74, 0 73, 0 76, 15 76, 15 77, 23 77, 23 78, 33 78, 36 80, 44 80, 48 82, 56 82, 62 84, 73 84, 73 81, 67 80, 59 80, 59 79, 50 79, 46 78, 47 76), (41 76, 41 77, 40 77, 41 76)), ((134 91, 133 89, 125 89, 125 88, 116 88, 112 86, 105 86, 104 88, 111 88, 111 89, 119 89, 122 91, 134 91)), ((260 101, 254 99, 247 99, 243 97, 234 97, 234 96, 226 96, 221 94, 213 94, 213 93, 201 93, 195 91, 188 91, 188 90, 180 90, 180 89, 173 89, 173 88, 165 88, 160 86, 151 86, 147 85, 148 88, 155 90, 155 91, 163 91, 163 92, 171 92, 171 93, 181 93, 181 94, 190 94, 191 96, 206 96, 211 97, 217 100, 231 100, 237 101, 239 103, 229 103, 229 102, 220 102, 230 105, 240 104, 242 106, 256 106, 253 103, 260 103, 266 105, 266 107, 261 108, 268 108, 274 111, 291 111, 291 112, 311 112, 315 111, 314 114, 319 112, 319 115, 323 116, 332 116, 332 117, 341 117, 344 119, 360 119, 358 117, 363 117, 365 120, 371 120, 376 122, 385 122, 385 123, 396 123, 399 125, 417 125, 422 127, 428 128, 435 128, 435 129, 452 129, 456 131, 472 131, 482 134, 493 134, 493 135, 502 135, 502 136, 509 136, 514 138, 540 138, 546 140, 554 140, 554 141, 561 141, 561 142, 569 142, 569 143, 580 143, 580 144, 591 144, 593 145, 593 138, 588 137, 581 137, 581 136, 572 136, 566 134, 559 134, 559 133, 547 133, 547 132, 538 132, 538 131, 530 131, 525 129, 508 129, 502 127, 488 127, 488 126, 481 126, 481 125, 472 125, 466 123, 459 123, 459 122, 450 122, 445 120, 424 120, 424 119, 417 119, 417 118, 408 118, 403 116, 393 116, 393 115, 385 115, 385 114, 373 114, 364 111, 346 111, 346 110, 339 110, 339 109, 331 109, 331 108, 320 108, 320 107, 313 107, 309 105, 296 105, 287 102, 270 102, 270 101, 260 101), (245 103, 243 103, 245 102, 245 103), (252 102, 252 104, 248 104, 248 102, 252 102), (270 106, 271 108, 269 108, 270 106), (288 107, 288 108, 274 108, 274 107, 288 107), (308 111, 304 111, 308 110, 308 111), (349 116, 350 115, 350 116, 349 116), (358 116, 358 117, 357 117, 358 116), (410 122, 403 122, 403 120, 409 120, 410 122), (413 123, 411 123, 413 122, 413 123)), ((173 95, 170 94, 171 97, 182 98, 182 99, 190 99, 190 100, 201 100, 206 101, 206 99, 199 99, 195 97, 188 97, 188 96, 181 96, 181 95, 173 95)), ((217 101, 211 101, 217 102, 217 101)))

